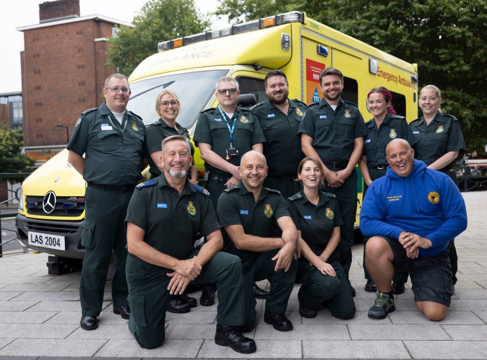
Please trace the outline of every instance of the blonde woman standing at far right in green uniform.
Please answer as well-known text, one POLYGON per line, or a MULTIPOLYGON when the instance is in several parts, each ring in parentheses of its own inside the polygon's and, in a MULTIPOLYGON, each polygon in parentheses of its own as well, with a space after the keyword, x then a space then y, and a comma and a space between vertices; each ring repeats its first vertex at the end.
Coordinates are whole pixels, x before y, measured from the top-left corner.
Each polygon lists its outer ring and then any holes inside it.
MULTIPOLYGON (((455 163, 466 151, 460 122, 452 115, 441 112, 441 93, 434 85, 420 91, 418 103, 423 117, 411 121, 409 127, 418 139, 414 158, 423 160, 430 169, 447 174, 458 185, 455 163)), ((458 257, 454 239, 448 243, 451 276, 457 282, 458 257)))

